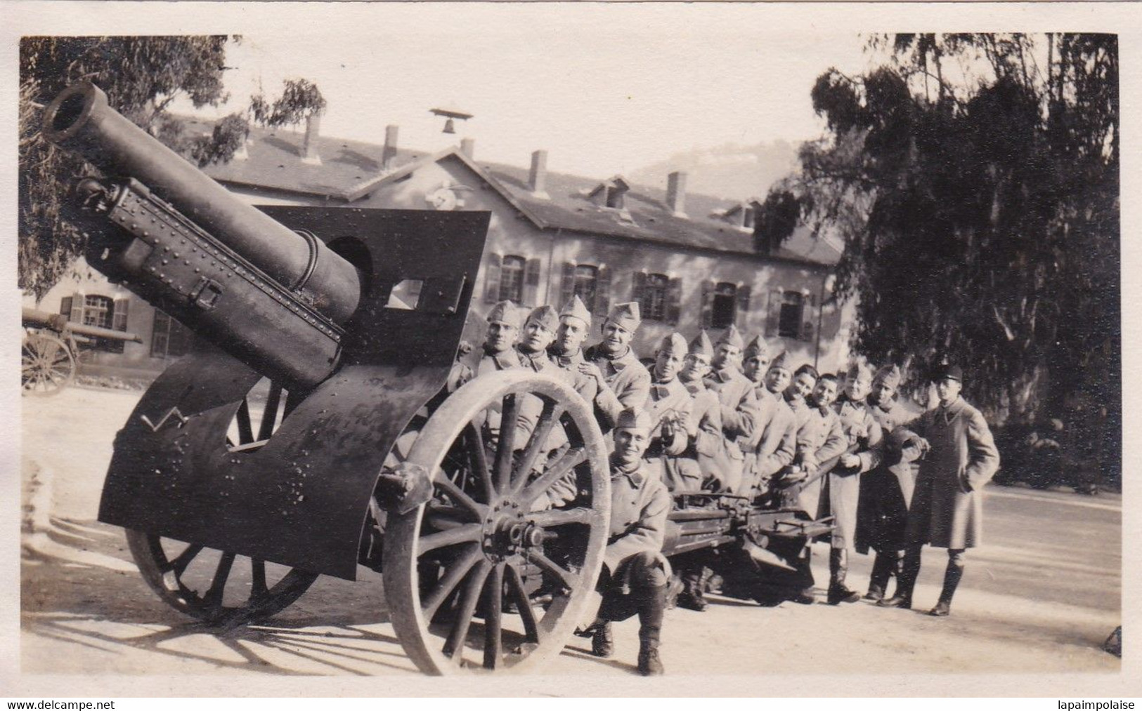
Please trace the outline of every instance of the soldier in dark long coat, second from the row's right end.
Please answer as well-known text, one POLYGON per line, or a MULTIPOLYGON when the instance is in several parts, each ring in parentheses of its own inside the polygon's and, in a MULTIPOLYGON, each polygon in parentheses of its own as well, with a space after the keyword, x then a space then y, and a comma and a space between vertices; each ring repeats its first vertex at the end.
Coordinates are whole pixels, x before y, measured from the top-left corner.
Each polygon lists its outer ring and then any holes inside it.
POLYGON ((900 387, 900 369, 885 365, 872 377, 872 390, 868 396, 872 418, 884 435, 880 446, 880 463, 861 477, 860 503, 856 509, 856 551, 867 554, 872 549, 872 574, 864 599, 880 601, 887 595, 888 579, 898 576, 901 554, 904 550, 904 525, 908 522, 908 503, 916 486, 916 467, 909 450, 895 437, 899 426, 910 419, 896 402, 900 387))

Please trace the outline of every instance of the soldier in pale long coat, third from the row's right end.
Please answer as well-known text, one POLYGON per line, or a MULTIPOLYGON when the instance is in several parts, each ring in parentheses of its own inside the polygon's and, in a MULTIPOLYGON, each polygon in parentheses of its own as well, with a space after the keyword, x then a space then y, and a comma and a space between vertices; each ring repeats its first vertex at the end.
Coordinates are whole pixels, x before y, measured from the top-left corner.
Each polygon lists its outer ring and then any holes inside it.
POLYGON ((849 551, 856 538, 856 507, 860 503, 861 475, 880 462, 880 426, 872 417, 868 403, 872 387, 872 371, 855 364, 845 374, 845 389, 833 407, 841 420, 841 429, 850 450, 829 471, 829 512, 836 526, 830 536, 829 604, 855 603, 860 593, 849 589, 849 551), (855 447, 855 449, 854 449, 855 447))

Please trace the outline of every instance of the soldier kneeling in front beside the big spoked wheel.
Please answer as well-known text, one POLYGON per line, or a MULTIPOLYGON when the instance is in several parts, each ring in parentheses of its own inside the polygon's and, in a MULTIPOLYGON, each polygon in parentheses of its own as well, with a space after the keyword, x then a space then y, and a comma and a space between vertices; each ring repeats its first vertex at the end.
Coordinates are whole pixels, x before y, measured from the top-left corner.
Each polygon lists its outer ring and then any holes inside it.
MULTIPOLYGON (((637 614, 642 625, 638 630, 638 673, 643 676, 664 671, 658 645, 669 567, 661 550, 670 494, 662 482, 648 474, 643 461, 652 425, 650 415, 642 410, 624 410, 617 419, 611 454, 611 538, 603 554, 597 585, 603 603, 595 622, 580 633, 593 636, 592 654, 611 656, 614 653, 611 622, 637 614)), ((566 492, 548 492, 553 504, 574 498, 573 483, 569 484, 566 492)))

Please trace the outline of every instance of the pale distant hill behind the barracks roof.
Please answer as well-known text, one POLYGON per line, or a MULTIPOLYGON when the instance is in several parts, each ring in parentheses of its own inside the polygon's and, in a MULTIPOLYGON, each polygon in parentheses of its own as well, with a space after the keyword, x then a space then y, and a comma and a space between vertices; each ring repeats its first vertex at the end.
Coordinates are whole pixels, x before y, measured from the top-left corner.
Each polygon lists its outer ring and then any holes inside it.
POLYGON ((756 146, 726 144, 684 151, 625 176, 632 183, 666 186, 675 170, 687 173, 686 191, 729 200, 765 197, 770 186, 796 167, 797 144, 773 140, 756 146))

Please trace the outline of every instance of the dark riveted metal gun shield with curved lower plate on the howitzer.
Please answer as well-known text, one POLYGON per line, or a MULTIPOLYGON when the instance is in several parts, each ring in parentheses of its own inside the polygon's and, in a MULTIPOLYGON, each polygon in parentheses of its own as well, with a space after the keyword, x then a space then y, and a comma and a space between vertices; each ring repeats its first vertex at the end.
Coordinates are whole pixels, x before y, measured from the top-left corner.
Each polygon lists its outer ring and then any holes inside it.
MULTIPOLYGON (((488 215, 266 212, 340 239, 367 275, 340 369, 311 389, 271 388, 255 427, 260 373, 214 347, 182 358, 119 433, 99 520, 352 580, 385 458, 447 380, 488 215)), ((274 329, 256 316, 230 329, 274 329)))

